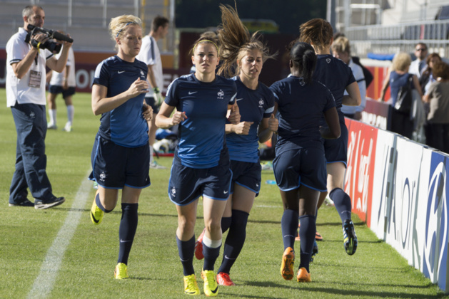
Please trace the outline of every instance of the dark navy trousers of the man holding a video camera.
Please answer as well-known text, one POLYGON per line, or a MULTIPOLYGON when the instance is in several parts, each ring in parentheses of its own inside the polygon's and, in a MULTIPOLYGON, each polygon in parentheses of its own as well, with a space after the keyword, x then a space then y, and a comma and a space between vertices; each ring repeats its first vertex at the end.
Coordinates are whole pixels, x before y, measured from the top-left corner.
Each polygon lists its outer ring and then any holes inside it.
MULTIPOLYGON (((9 202, 26 199, 29 188, 35 199, 51 199, 51 184, 46 174, 45 105, 16 104, 11 107, 17 132, 16 171, 9 189, 9 202)), ((31 200, 32 201, 32 200, 31 200)))

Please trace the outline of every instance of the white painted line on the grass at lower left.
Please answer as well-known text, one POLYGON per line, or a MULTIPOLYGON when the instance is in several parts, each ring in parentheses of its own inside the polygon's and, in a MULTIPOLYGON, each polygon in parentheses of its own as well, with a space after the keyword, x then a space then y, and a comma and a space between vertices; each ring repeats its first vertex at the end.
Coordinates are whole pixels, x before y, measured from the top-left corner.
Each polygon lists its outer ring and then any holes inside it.
MULTIPOLYGON (((88 175, 90 173, 91 170, 89 170, 88 175)), ((83 179, 78 192, 76 192, 74 203, 71 205, 71 209, 66 216, 66 221, 59 230, 49 251, 47 251, 39 276, 34 280, 33 288, 29 292, 28 298, 49 298, 66 248, 69 246, 71 238, 74 236, 76 227, 79 224, 79 219, 83 214, 91 187, 92 182, 87 178, 83 179)))

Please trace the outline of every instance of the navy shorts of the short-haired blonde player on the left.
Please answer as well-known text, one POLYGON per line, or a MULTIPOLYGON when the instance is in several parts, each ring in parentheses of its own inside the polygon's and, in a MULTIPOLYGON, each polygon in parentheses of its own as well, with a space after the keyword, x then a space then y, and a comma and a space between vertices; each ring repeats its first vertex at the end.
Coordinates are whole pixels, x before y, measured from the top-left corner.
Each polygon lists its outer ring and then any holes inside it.
POLYGON ((150 148, 122 147, 96 135, 91 154, 89 179, 106 189, 128 186, 142 189, 150 186, 150 148))

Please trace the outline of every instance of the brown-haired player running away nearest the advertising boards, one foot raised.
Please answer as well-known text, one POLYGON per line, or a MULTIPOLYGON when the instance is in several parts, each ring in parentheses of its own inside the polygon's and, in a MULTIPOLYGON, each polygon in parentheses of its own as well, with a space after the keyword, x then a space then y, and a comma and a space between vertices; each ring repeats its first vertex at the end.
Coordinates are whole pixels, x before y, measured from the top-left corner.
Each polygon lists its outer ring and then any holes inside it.
MULTIPOLYGON (((361 103, 357 81, 349 66, 338 58, 331 56, 333 30, 331 24, 323 19, 312 19, 299 27, 300 41, 310 43, 317 54, 317 65, 313 77, 326 85, 336 101, 340 119, 341 136, 335 140, 323 140, 327 161, 327 190, 333 200, 343 226, 343 244, 346 253, 353 255, 357 249, 357 236, 351 220, 352 203, 343 191, 346 162, 348 159, 348 128, 341 106, 357 106, 361 103), (344 95, 345 90, 348 95, 344 95)), ((324 120, 321 122, 326 126, 324 120)), ((326 199, 327 192, 321 192, 318 206, 326 199)), ((302 228, 301 228, 302 229, 302 228)))

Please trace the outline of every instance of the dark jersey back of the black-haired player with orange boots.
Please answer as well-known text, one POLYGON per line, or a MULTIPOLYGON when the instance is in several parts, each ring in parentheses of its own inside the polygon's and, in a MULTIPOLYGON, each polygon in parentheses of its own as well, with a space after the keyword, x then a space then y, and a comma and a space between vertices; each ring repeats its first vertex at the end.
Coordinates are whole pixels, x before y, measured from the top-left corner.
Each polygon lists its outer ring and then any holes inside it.
MULTIPOLYGON (((323 112, 336 107, 332 93, 313 80, 290 76, 271 85, 278 103, 278 143, 285 150, 303 147, 310 142, 321 143, 320 121, 323 112)), ((278 152, 276 152, 278 154, 278 152)))

